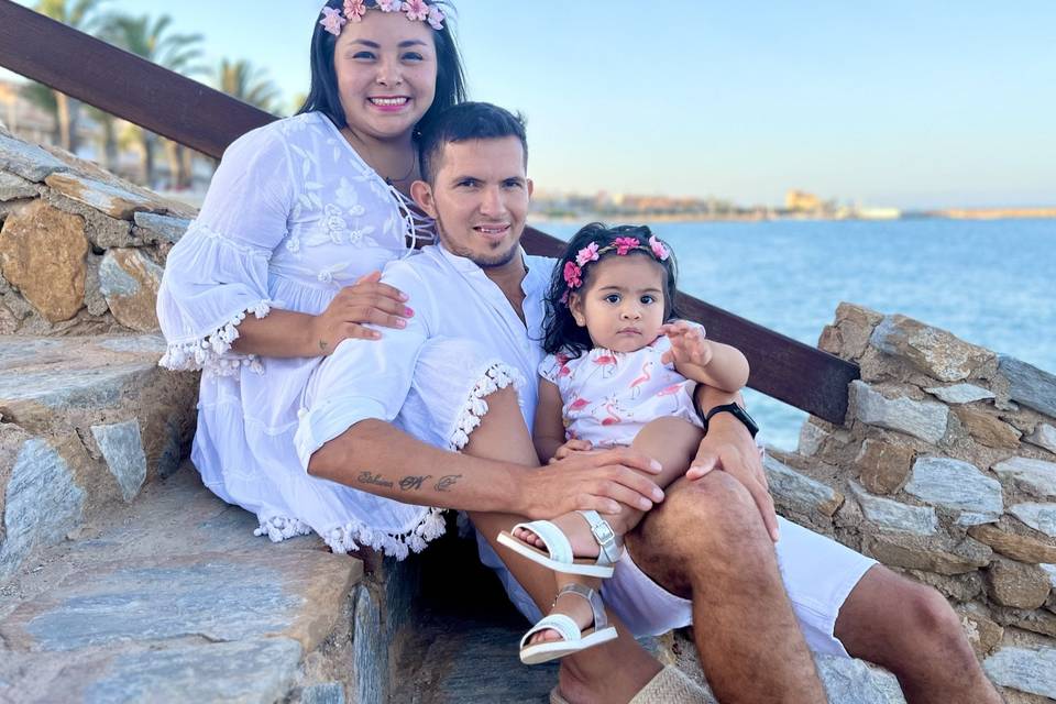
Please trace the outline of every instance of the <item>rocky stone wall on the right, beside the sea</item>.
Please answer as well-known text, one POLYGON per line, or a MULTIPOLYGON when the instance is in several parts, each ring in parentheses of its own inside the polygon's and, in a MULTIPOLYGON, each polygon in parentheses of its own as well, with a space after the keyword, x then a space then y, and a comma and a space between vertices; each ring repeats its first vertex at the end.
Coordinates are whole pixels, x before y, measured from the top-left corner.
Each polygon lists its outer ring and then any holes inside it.
POLYGON ((861 380, 767 459, 781 512, 942 592, 1010 702, 1056 697, 1056 376, 850 304, 820 346, 861 380))

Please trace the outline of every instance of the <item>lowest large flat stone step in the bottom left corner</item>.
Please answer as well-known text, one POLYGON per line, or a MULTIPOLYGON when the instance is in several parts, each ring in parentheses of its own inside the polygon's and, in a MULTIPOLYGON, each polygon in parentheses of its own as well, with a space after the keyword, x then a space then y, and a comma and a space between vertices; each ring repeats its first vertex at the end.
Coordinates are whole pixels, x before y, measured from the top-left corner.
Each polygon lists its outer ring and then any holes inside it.
POLYGON ((255 527, 188 466, 34 554, 0 587, 0 701, 370 701, 362 561, 255 527))

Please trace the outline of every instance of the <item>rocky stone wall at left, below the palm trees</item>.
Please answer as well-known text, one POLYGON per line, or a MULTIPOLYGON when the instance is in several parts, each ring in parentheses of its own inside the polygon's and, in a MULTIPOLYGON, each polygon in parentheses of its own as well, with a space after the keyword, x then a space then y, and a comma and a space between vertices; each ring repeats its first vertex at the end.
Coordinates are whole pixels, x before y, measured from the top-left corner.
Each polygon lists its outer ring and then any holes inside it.
POLYGON ((194 216, 0 130, 0 334, 156 331, 165 256, 194 216))

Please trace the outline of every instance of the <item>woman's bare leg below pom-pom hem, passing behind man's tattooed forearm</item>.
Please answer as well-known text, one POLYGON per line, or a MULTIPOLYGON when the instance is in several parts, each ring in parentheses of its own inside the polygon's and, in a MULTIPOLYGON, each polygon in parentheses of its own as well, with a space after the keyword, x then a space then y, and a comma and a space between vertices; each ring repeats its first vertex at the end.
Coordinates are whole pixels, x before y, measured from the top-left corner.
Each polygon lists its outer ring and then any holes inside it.
MULTIPOLYGON (((466 454, 506 462, 538 465, 535 447, 517 406, 516 392, 502 389, 487 397, 488 413, 470 435, 463 449, 466 454)), ((505 514, 471 513, 473 525, 491 543, 514 578, 528 592, 541 610, 547 610, 557 594, 553 572, 498 546, 495 538, 522 520, 505 514)), ((562 661, 562 675, 572 662, 576 666, 574 682, 561 679, 561 692, 573 704, 580 702, 628 702, 661 669, 619 619, 612 618, 619 637, 562 661), (618 663, 618 664, 616 664, 618 663)), ((513 646, 512 646, 513 647, 513 646)))

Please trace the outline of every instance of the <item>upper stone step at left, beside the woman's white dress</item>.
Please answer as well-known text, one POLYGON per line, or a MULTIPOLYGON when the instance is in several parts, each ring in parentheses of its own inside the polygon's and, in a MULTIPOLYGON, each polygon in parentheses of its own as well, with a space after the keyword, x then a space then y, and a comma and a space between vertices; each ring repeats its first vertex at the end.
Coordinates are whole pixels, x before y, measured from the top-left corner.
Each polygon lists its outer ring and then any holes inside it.
POLYGON ((153 334, 0 337, 0 584, 179 465, 198 377, 160 369, 164 349, 153 334))

